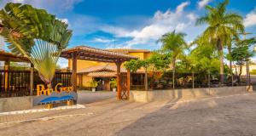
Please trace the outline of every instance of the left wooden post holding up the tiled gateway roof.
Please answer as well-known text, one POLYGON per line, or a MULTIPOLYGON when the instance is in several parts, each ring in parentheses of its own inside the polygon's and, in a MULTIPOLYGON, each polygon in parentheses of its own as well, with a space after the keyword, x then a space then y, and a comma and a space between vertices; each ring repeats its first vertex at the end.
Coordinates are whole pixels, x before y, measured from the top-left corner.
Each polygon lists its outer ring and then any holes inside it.
POLYGON ((77 60, 78 54, 74 52, 72 54, 72 86, 74 92, 77 92, 77 60))

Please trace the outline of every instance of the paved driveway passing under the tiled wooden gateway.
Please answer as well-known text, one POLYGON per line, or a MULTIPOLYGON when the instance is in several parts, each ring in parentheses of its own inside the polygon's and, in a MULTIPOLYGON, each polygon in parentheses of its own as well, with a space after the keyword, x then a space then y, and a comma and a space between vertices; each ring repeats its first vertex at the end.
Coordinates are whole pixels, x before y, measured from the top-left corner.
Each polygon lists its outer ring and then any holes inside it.
POLYGON ((107 92, 107 91, 78 91, 79 95, 79 104, 89 104, 105 99, 115 99, 116 93, 107 92))

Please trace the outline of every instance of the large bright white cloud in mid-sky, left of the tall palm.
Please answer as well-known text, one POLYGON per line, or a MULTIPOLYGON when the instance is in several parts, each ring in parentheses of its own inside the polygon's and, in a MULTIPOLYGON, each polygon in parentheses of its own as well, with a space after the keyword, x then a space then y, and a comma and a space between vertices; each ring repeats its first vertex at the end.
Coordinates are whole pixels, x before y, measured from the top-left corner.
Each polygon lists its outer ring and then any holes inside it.
POLYGON ((194 26, 196 15, 193 13, 186 14, 183 9, 189 5, 189 2, 181 3, 175 11, 167 9, 166 12, 156 11, 152 23, 143 26, 137 30, 126 30, 124 28, 107 26, 102 31, 113 33, 116 37, 130 37, 131 40, 125 42, 122 46, 131 48, 138 44, 151 44, 169 31, 184 31, 188 26, 194 26))

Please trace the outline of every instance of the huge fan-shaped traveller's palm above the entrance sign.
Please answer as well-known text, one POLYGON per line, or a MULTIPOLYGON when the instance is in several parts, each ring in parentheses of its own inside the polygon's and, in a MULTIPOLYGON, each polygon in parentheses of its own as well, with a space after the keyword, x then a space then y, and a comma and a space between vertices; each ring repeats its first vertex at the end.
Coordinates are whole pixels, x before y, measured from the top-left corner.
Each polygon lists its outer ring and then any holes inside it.
POLYGON ((0 34, 12 53, 30 59, 40 78, 51 87, 61 50, 67 48, 72 31, 55 15, 28 4, 7 3, 0 10, 0 34))

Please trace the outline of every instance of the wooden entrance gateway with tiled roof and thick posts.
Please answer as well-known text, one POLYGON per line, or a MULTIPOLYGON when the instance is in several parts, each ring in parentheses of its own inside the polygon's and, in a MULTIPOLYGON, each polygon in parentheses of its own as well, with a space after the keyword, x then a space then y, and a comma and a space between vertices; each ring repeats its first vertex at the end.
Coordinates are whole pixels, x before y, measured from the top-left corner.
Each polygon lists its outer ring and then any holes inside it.
POLYGON ((120 66, 123 62, 130 59, 137 59, 137 57, 128 55, 128 54, 120 54, 117 52, 99 49, 99 48, 90 48, 87 46, 77 46, 74 48, 64 49, 61 53, 61 57, 66 59, 72 59, 73 62, 73 89, 77 91, 77 59, 83 60, 92 60, 92 61, 100 61, 100 62, 108 62, 115 63, 117 66, 117 99, 129 99, 130 97, 130 71, 127 70, 127 86, 124 87, 121 85, 120 78, 120 66), (125 97, 126 96, 126 97, 125 97))

